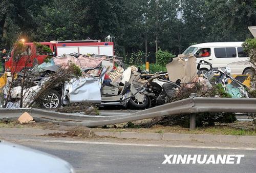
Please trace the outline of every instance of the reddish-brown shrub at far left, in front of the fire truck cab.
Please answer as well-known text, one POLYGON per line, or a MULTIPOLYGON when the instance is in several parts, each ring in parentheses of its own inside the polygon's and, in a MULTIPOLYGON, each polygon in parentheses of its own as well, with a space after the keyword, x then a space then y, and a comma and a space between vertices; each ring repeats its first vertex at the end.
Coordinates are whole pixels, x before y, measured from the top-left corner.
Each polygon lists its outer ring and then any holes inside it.
POLYGON ((33 85, 33 81, 31 81, 31 77, 28 77, 32 75, 32 71, 29 69, 33 68, 35 64, 38 63, 37 55, 48 55, 52 53, 52 51, 49 50, 50 48, 47 46, 41 45, 37 42, 34 42, 34 45, 36 46, 36 50, 39 50, 36 52, 36 56, 32 55, 33 52, 31 51, 31 47, 23 42, 15 42, 13 46, 11 80, 8 81, 6 85, 6 99, 4 107, 12 106, 12 104, 8 105, 8 103, 13 102, 19 103, 19 107, 26 107, 28 106, 28 101, 31 99, 30 97, 34 94, 33 92, 35 92, 30 89, 33 85), (18 67, 20 64, 23 66, 21 71, 18 67))

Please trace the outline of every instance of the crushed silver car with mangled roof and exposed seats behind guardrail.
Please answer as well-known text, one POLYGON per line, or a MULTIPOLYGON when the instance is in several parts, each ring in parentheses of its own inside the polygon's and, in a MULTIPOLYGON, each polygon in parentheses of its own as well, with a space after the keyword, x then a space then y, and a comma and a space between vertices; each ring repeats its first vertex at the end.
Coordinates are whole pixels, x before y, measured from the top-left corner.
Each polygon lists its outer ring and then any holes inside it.
MULTIPOLYGON (((58 56, 35 66, 29 75, 34 85, 26 98, 33 100, 33 94, 44 88, 49 76, 59 73, 70 63, 81 70, 81 76, 58 83, 42 98, 42 106, 57 108, 71 103, 88 102, 97 105, 122 105, 135 109, 145 109, 170 102, 180 86, 166 80, 166 74, 141 74, 135 66, 124 68, 120 57, 103 55, 69 54, 58 56)), ((22 76, 22 74, 20 74, 22 76)), ((20 87, 13 88, 19 93, 20 87)), ((25 95, 25 93, 24 93, 25 95)), ((18 99, 19 94, 13 98, 18 99)), ((29 105, 29 104, 27 104, 29 105)))

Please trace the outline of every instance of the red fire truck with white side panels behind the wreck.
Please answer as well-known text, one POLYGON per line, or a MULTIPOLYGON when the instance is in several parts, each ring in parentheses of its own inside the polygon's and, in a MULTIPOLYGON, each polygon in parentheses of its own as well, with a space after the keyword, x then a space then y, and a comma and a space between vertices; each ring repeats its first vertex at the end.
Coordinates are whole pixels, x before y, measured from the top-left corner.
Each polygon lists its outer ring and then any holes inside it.
MULTIPOLYGON (((61 56, 63 54, 80 53, 80 54, 97 54, 114 56, 115 44, 112 41, 115 37, 106 37, 105 42, 100 40, 78 40, 78 41, 50 41, 40 42, 41 45, 48 46, 54 53, 54 56, 61 56)), ((27 51, 18 60, 14 61, 12 50, 9 59, 5 62, 5 71, 7 72, 20 72, 25 68, 33 67, 36 62, 38 64, 44 62, 45 58, 49 55, 38 55, 37 48, 33 42, 26 42, 28 46, 27 51), (29 61, 26 61, 28 60, 29 61), (25 64, 27 63, 27 64, 25 64)), ((14 48, 15 49, 15 48, 14 48)))

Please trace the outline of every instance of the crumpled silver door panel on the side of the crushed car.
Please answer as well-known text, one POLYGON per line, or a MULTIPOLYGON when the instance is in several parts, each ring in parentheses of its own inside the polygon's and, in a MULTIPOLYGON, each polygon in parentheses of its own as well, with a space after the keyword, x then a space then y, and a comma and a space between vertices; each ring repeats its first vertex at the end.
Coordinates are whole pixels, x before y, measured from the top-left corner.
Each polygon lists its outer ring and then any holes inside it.
MULTIPOLYGON (((65 91, 68 90, 70 103, 76 102, 101 102, 101 79, 100 78, 79 78, 72 79, 65 84, 65 91)), ((66 91, 67 93, 67 91, 66 91)), ((65 94, 65 93, 64 93, 65 94)))

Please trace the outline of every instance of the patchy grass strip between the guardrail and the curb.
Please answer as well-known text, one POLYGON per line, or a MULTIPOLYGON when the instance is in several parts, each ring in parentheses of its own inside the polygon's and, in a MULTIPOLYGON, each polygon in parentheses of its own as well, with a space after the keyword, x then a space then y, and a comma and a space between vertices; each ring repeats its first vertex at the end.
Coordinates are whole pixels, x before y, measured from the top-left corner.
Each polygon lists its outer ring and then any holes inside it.
MULTIPOLYGON (((252 129, 252 122, 239 122, 218 124, 210 127, 197 127, 194 131, 189 131, 178 125, 162 126, 155 125, 151 128, 141 128, 134 124, 130 128, 122 128, 124 124, 116 124, 115 127, 93 128, 93 131, 105 132, 137 132, 137 133, 180 133, 180 134, 212 134, 212 135, 236 135, 236 136, 256 136, 256 131, 252 129)), ((17 124, 16 121, 0 122, 0 128, 42 128, 42 129, 57 129, 57 125, 52 123, 31 123, 17 124)))

